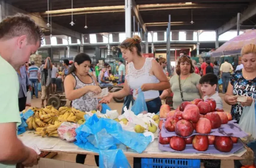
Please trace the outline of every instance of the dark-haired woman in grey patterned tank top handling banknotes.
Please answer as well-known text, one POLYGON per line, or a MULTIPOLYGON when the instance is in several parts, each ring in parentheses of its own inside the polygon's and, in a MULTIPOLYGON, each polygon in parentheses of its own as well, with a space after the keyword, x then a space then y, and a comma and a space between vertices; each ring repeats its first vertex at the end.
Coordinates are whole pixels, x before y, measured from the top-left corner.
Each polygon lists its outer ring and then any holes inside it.
MULTIPOLYGON (((101 93, 101 88, 95 76, 89 73, 90 64, 92 63, 89 55, 80 53, 76 55, 74 64, 64 80, 66 98, 72 101, 72 107, 80 111, 91 111, 102 109, 98 104, 97 98, 92 98, 95 94, 101 93)), ((95 162, 99 166, 99 156, 95 155, 95 162)), ((76 163, 84 164, 86 155, 76 155, 76 163)))

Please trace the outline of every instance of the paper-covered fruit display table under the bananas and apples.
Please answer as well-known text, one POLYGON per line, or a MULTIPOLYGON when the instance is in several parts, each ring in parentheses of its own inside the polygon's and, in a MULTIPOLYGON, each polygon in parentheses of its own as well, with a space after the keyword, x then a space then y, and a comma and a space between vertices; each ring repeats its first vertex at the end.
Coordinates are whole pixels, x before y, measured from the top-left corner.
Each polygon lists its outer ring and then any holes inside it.
MULTIPOLYGON (((98 155, 98 153, 86 151, 79 148, 74 143, 68 143, 54 137, 40 137, 33 134, 33 131, 26 131, 18 136, 26 146, 37 145, 41 152, 58 152, 58 153, 73 153, 85 155, 98 155)), ((202 153, 182 153, 182 152, 164 152, 159 150, 158 139, 150 143, 147 149, 142 153, 133 152, 132 149, 123 149, 127 157, 139 158, 177 158, 177 159, 220 159, 220 160, 242 160, 248 165, 253 164, 254 153, 245 144, 242 149, 234 154, 202 154, 202 153)))

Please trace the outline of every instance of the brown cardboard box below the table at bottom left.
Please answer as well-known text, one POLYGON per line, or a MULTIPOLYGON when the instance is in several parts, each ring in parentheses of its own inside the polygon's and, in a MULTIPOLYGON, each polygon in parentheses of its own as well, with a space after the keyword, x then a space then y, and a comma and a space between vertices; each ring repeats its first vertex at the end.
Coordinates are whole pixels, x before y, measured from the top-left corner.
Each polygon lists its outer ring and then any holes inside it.
POLYGON ((54 159, 40 158, 38 165, 32 168, 98 168, 96 166, 88 166, 85 164, 58 161, 54 159))

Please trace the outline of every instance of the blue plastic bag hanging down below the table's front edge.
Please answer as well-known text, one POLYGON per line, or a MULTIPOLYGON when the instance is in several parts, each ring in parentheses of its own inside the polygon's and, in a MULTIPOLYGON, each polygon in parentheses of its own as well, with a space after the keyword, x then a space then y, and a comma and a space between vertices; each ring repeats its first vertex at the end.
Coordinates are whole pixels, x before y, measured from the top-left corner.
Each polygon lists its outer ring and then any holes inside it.
POLYGON ((100 151, 99 167, 130 168, 130 164, 121 149, 100 151))

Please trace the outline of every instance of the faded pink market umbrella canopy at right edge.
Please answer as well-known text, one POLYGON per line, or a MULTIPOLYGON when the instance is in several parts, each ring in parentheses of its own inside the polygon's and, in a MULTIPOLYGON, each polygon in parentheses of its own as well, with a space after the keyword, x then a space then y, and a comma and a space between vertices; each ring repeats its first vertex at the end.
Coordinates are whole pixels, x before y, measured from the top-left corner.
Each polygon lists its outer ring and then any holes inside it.
POLYGON ((256 30, 249 30, 242 35, 232 38, 212 52, 211 56, 219 57, 222 55, 240 54, 242 47, 251 43, 256 44, 256 30))

